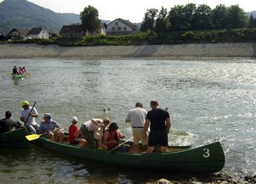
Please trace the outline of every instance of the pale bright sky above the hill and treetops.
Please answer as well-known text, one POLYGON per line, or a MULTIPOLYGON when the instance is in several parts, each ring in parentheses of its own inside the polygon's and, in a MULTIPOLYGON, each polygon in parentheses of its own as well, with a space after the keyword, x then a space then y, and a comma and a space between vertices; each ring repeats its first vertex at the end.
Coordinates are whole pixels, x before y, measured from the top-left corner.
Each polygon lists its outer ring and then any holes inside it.
MULTIPOLYGON (((3 0, 0 0, 0 3, 3 0)), ((161 9, 162 6, 168 11, 174 5, 185 5, 188 3, 207 4, 214 8, 217 4, 230 6, 238 4, 244 11, 256 10, 255 0, 28 0, 44 8, 49 8, 57 13, 79 14, 83 8, 91 5, 99 11, 99 19, 115 20, 118 18, 130 20, 131 22, 142 22, 147 9, 161 9)))

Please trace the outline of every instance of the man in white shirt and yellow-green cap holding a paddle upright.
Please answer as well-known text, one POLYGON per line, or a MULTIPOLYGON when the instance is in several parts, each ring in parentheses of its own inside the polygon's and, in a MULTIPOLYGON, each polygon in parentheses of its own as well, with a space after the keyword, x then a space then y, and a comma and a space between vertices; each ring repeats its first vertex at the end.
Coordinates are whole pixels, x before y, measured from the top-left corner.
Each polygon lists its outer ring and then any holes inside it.
POLYGON ((39 129, 39 125, 35 121, 35 118, 38 118, 38 112, 36 111, 35 107, 32 109, 26 100, 23 101, 20 106, 23 108, 20 114, 20 120, 25 123, 29 133, 36 134, 39 129))

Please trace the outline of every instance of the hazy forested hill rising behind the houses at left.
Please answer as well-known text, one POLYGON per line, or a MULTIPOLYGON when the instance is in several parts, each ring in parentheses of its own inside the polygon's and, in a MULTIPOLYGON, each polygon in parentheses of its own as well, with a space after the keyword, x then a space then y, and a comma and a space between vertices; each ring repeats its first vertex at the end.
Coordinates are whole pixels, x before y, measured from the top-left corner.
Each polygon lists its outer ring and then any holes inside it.
POLYGON ((81 22, 74 13, 55 13, 26 0, 5 0, 0 3, 0 34, 17 28, 44 27, 60 31, 63 25, 81 22))

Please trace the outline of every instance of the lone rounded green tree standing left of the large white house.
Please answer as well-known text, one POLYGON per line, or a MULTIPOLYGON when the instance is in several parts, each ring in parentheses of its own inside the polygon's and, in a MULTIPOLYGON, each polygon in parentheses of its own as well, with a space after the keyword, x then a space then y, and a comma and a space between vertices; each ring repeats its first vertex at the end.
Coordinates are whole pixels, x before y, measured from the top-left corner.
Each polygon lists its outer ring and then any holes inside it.
POLYGON ((87 6, 80 13, 83 29, 88 30, 89 35, 100 26, 99 12, 93 6, 87 6))

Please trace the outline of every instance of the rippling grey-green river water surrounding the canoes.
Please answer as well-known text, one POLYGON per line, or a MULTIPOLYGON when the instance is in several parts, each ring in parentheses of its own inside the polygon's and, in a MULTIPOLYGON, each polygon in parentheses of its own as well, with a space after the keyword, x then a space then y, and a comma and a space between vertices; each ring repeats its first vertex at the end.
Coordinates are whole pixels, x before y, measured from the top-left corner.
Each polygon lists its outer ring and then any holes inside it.
MULTIPOLYGON (((256 174, 256 61, 253 59, 0 59, 0 117, 28 100, 40 115, 52 114, 68 128, 102 118, 103 109, 131 137, 125 116, 136 102, 149 111, 150 100, 172 116, 170 145, 200 145, 219 139, 225 151, 223 172, 239 178, 256 174), (31 77, 13 81, 13 66, 31 77)), ((37 118, 40 123, 42 118, 37 118)), ((1 183, 146 183, 160 178, 188 180, 193 175, 141 171, 71 158, 36 146, 1 149, 1 183)), ((204 176, 196 176, 204 177, 204 176)))

